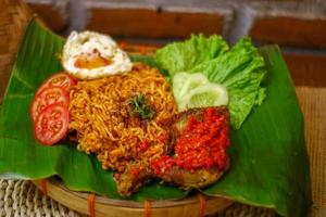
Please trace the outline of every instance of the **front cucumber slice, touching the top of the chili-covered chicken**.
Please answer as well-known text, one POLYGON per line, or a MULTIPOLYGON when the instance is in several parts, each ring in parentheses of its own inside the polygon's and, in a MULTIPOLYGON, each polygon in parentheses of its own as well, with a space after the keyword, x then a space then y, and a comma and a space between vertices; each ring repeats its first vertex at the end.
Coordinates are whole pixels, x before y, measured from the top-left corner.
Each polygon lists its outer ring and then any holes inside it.
POLYGON ((205 84, 191 90, 179 103, 179 110, 226 105, 228 94, 225 87, 216 84, 205 84))

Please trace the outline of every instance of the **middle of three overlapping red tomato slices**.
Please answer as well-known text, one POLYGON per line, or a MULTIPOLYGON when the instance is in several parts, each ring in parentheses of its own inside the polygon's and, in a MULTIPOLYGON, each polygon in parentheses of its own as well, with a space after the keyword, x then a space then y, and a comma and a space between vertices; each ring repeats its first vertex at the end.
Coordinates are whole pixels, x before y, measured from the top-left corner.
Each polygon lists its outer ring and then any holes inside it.
POLYGON ((49 105, 62 103, 65 107, 70 103, 70 94, 60 87, 45 88, 39 94, 35 95, 30 105, 30 119, 36 120, 37 116, 49 105))

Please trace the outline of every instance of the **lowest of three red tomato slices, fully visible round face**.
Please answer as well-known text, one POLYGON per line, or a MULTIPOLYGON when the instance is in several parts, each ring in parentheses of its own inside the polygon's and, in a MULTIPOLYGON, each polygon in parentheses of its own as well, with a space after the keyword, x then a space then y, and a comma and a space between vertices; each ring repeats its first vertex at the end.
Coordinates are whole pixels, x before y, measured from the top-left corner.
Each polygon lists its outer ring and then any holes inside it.
POLYGON ((45 145, 52 145, 63 139, 68 129, 68 108, 61 103, 49 105, 34 123, 34 136, 45 145))

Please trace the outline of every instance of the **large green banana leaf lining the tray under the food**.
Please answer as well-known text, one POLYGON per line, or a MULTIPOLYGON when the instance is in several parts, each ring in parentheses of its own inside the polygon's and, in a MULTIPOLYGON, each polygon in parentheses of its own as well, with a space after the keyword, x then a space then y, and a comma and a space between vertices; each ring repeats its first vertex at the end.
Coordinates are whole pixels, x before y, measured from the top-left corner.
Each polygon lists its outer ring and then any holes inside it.
MULTIPOLYGON (((28 25, 0 113, 0 178, 59 176, 71 190, 122 199, 116 192, 113 171, 103 170, 95 155, 78 152, 68 141, 42 146, 34 140, 29 104, 42 80, 62 71, 55 54, 63 43, 63 38, 34 20, 28 25)), ((201 191, 274 208, 281 216, 305 216, 312 199, 302 113, 278 47, 264 47, 260 51, 268 74, 264 84, 267 98, 240 130, 231 131, 229 171, 201 191)), ((133 55, 131 60, 155 65, 151 56, 133 55)), ((123 200, 177 200, 189 193, 153 181, 123 200)))

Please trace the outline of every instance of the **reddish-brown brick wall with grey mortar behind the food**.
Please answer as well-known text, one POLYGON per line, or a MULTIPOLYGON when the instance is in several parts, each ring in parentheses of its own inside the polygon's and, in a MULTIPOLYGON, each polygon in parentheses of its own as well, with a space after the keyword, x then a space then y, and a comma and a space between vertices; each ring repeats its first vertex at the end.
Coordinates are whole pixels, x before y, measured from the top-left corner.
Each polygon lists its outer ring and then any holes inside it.
POLYGON ((326 86, 326 0, 27 1, 62 35, 87 28, 155 43, 191 33, 221 34, 230 43, 248 35, 281 47, 296 84, 326 86))

